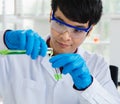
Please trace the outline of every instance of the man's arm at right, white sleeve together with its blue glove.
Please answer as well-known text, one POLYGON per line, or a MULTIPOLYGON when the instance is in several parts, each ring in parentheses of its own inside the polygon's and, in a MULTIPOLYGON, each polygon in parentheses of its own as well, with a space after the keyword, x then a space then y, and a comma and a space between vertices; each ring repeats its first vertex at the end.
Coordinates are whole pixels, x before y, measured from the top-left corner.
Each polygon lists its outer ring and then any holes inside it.
POLYGON ((96 69, 94 74, 95 77, 88 71, 89 69, 85 64, 86 62, 77 54, 56 55, 50 59, 50 62, 54 68, 63 67, 63 74, 68 73, 71 75, 75 85, 75 91, 79 96, 80 102, 84 104, 120 103, 119 95, 115 94, 116 96, 114 96, 112 95, 112 92, 108 92, 110 91, 110 86, 113 93, 117 93, 117 90, 113 83, 111 83, 112 81, 109 77, 109 72, 102 70, 104 62, 103 64, 101 62, 101 65, 98 65, 100 67, 97 68, 100 69, 98 69, 98 73, 96 69), (93 81, 91 81, 90 76, 93 76, 93 81), (109 88, 109 90, 107 88, 109 88))

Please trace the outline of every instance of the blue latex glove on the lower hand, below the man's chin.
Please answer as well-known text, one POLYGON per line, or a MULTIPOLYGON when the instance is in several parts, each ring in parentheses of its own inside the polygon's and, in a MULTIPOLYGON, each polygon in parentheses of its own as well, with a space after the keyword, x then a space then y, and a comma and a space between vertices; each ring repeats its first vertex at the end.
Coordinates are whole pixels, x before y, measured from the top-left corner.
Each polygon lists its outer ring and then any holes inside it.
POLYGON ((92 77, 85 61, 79 54, 65 53, 53 56, 50 59, 52 67, 63 67, 62 73, 72 76, 77 89, 85 89, 92 83, 92 77))

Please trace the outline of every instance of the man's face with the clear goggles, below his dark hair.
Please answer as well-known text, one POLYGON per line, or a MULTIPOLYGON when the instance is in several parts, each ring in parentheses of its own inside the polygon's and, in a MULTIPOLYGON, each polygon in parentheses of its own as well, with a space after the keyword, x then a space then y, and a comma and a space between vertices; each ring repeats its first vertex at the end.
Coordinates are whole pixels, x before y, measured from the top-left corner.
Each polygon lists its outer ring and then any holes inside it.
POLYGON ((77 30, 76 27, 90 30, 88 23, 71 21, 58 8, 51 18, 50 47, 54 54, 73 53, 83 43, 88 31, 77 30))

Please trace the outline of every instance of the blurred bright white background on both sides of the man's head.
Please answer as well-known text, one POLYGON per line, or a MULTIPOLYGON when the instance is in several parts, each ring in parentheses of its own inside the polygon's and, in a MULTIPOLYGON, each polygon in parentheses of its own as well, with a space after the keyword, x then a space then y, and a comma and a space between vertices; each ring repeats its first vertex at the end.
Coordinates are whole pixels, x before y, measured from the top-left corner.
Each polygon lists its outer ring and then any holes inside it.
MULTIPOLYGON (((0 0, 0 30, 34 29, 49 33, 51 0, 0 0)), ((120 0, 103 0, 103 16, 83 47, 120 68, 120 0)), ((119 72, 120 82, 120 72, 119 72)))

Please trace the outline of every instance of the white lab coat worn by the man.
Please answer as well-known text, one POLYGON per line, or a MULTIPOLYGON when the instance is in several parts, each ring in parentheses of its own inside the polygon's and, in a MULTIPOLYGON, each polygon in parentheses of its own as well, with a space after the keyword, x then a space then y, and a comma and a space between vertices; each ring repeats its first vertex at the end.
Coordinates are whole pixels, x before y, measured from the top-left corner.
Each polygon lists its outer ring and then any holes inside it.
POLYGON ((81 48, 77 53, 86 60, 93 76, 93 83, 84 91, 73 88, 69 74, 56 81, 49 56, 37 60, 27 55, 0 56, 0 95, 4 104, 120 104, 104 58, 81 48))

